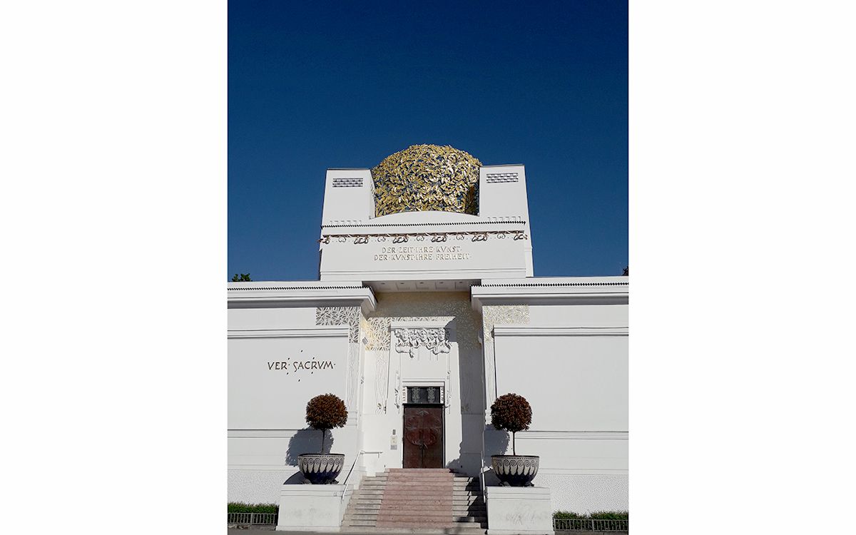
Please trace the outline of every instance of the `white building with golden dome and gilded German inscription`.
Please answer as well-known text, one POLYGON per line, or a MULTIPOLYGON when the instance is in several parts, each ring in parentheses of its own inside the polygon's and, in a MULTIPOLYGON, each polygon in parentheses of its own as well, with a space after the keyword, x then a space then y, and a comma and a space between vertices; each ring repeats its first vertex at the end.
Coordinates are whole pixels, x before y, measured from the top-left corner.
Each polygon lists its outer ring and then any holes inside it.
POLYGON ((628 277, 533 276, 532 244, 523 165, 414 146, 329 169, 319 280, 229 283, 229 501, 300 479, 325 393, 348 407, 325 448, 340 483, 424 466, 491 484, 511 443, 490 405, 514 392, 554 510, 626 510, 628 277), (434 407, 429 448, 408 441, 413 407, 434 407))

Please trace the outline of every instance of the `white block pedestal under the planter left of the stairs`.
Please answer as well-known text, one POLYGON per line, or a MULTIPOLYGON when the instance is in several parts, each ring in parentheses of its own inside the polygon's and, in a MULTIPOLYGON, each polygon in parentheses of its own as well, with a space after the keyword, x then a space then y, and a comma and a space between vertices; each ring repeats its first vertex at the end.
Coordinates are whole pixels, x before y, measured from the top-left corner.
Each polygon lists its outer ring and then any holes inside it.
POLYGON ((277 531, 338 532, 345 503, 343 484, 283 484, 277 531))

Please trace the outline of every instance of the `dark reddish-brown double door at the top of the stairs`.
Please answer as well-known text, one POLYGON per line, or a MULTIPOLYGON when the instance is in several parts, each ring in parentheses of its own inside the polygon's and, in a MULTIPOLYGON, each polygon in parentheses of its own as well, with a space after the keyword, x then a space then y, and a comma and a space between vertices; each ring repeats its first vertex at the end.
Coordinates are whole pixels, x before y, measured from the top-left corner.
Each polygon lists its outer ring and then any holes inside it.
POLYGON ((443 468, 443 405, 404 406, 405 468, 443 468))

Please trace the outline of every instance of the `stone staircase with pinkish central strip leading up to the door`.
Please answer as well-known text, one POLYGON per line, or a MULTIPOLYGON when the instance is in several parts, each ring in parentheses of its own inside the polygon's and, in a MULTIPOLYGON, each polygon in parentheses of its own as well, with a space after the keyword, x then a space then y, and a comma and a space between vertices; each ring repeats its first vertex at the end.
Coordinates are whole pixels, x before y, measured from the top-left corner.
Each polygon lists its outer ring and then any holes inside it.
POLYGON ((342 520, 351 533, 484 535, 487 510, 479 478, 445 468, 391 468, 364 478, 342 520))

